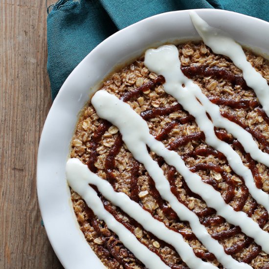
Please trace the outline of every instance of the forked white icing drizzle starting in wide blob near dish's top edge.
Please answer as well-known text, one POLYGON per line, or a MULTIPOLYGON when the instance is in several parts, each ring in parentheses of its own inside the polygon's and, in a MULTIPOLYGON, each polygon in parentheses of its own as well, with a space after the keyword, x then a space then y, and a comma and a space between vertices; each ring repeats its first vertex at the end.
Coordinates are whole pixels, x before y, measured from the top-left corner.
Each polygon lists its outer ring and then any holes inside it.
MULTIPOLYGON (((219 106, 211 103, 200 87, 182 73, 178 48, 175 45, 164 45, 157 49, 148 49, 145 54, 145 65, 151 71, 165 77, 164 90, 176 98, 184 110, 195 117, 196 123, 205 135, 205 142, 224 154, 233 171, 245 180, 251 196, 269 211, 269 195, 256 187, 251 171, 243 164, 239 154, 229 144, 218 139, 214 126, 224 127, 228 132, 231 131, 243 146, 248 143, 248 149, 254 155, 260 151, 257 144, 251 134, 222 117, 219 106), (207 117, 206 112, 211 116, 212 121, 207 117), (256 147, 251 147, 251 140, 256 147)), ((267 154, 265 155, 268 157, 267 154)))

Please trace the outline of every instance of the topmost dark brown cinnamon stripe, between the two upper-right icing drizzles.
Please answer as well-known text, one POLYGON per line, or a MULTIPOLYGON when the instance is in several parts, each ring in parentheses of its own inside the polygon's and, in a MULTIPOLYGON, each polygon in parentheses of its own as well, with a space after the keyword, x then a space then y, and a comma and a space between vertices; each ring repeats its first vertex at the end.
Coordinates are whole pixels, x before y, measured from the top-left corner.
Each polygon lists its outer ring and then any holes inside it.
POLYGON ((244 89, 250 89, 247 86, 247 83, 244 80, 243 76, 235 75, 234 73, 232 73, 231 71, 228 71, 225 68, 207 67, 203 65, 192 65, 192 66, 187 66, 187 67, 181 66, 181 70, 183 74, 188 78, 191 78, 195 75, 203 76, 203 77, 213 76, 218 79, 223 78, 227 81, 230 81, 234 85, 240 85, 244 89))

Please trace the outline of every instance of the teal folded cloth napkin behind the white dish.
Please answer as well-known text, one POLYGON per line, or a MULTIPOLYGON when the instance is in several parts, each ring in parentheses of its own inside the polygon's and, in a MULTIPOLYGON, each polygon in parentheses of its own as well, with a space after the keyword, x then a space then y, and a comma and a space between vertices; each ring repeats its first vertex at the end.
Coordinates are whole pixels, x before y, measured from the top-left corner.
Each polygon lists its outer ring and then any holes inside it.
POLYGON ((159 13, 192 8, 226 9, 269 21, 269 0, 58 0, 47 16, 52 99, 79 62, 112 33, 159 13))

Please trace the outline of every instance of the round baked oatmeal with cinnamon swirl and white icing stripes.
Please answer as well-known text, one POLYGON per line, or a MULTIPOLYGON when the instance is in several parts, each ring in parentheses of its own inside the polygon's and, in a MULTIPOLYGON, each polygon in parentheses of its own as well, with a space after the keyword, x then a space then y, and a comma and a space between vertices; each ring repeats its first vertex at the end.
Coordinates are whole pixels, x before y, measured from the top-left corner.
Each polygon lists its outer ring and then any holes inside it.
POLYGON ((79 118, 71 200, 109 269, 269 269, 269 61, 200 34, 113 72, 79 118))

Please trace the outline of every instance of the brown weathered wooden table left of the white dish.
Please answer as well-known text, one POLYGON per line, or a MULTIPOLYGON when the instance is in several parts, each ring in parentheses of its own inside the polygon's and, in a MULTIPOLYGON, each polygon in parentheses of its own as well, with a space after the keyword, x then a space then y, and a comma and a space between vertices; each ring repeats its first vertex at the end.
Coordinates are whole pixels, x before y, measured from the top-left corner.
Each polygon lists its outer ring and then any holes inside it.
POLYGON ((51 106, 45 0, 0 0, 0 35, 0 269, 63 268, 41 225, 36 192, 39 138, 51 106))

